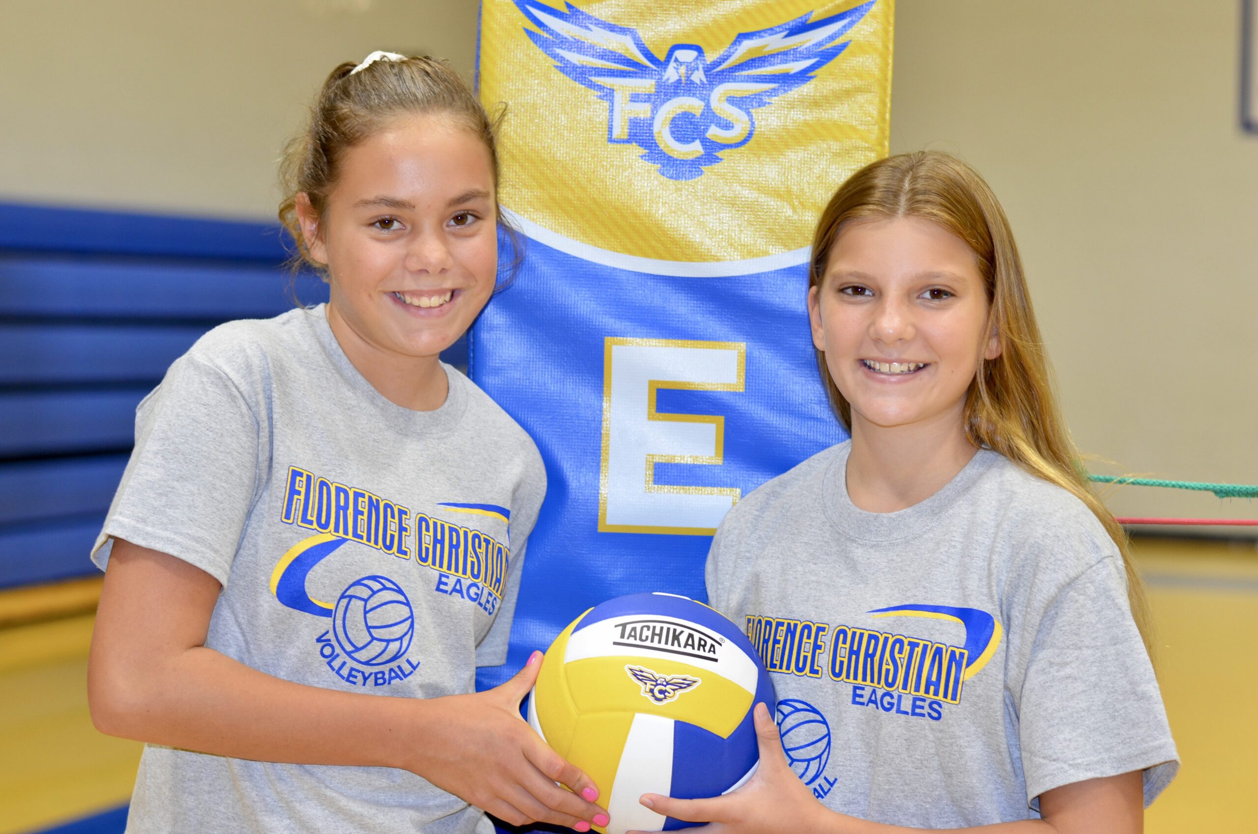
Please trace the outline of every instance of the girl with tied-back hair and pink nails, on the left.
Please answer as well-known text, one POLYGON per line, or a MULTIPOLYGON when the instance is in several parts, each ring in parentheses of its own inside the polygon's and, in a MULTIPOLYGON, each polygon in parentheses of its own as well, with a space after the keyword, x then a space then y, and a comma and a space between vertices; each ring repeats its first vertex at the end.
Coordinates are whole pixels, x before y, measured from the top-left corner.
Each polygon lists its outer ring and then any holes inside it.
POLYGON ((493 122, 445 62, 372 53, 281 173, 330 301, 171 365, 93 548, 92 718, 147 742, 127 830, 605 825, 520 718, 541 654, 474 692, 546 491, 532 440, 439 359, 497 283, 493 122))

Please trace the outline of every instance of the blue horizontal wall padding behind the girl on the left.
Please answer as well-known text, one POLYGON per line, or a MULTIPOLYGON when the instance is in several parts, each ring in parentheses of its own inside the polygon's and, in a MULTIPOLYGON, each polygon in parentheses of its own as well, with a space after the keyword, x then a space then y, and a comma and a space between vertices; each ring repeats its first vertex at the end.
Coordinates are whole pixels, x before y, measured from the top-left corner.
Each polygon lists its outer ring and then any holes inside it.
MULTIPOLYGON (((327 287, 270 223, 0 204, 0 587, 92 573, 136 403, 201 334, 327 287)), ((121 829, 120 829, 121 830, 121 829)))

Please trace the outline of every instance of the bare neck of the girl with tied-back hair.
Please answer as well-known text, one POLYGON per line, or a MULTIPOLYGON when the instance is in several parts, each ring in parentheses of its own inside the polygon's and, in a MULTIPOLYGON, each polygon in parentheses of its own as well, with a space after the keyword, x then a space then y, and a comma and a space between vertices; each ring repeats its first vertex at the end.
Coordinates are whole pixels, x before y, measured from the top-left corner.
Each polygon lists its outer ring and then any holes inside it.
POLYGON ((438 357, 408 357, 364 338, 335 304, 326 307, 327 324, 350 364, 380 396, 411 411, 435 411, 445 402, 449 380, 438 357))

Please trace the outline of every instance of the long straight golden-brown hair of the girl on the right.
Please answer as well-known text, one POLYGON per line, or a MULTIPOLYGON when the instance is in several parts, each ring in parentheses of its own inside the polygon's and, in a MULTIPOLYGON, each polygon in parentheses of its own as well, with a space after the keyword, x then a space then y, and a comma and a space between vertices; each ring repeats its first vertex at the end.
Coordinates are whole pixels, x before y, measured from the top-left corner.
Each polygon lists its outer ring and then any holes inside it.
MULTIPOLYGON (((1093 494, 1066 428, 1044 344, 1035 323, 1018 246, 996 195, 979 174, 949 154, 917 151, 878 160, 845 181, 821 213, 813 238, 809 287, 820 287, 834 242, 847 223, 918 217, 938 223, 974 252, 986 287, 1000 355, 979 358, 965 398, 965 433, 976 447, 1000 452, 1023 470, 1083 501, 1122 554, 1131 615, 1151 653, 1145 586, 1131 561, 1131 542, 1113 513, 1093 494)), ((834 384, 825 353, 816 365, 830 404, 852 426, 852 404, 834 384)))

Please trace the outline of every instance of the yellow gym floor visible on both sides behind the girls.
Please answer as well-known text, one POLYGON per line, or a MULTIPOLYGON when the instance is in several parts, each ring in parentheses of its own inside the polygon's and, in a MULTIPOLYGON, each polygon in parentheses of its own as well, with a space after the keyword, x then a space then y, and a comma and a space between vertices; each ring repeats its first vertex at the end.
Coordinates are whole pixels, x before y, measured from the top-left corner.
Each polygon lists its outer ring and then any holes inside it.
MULTIPOLYGON (((1258 831, 1249 806, 1258 785, 1258 549, 1146 538, 1136 552, 1184 762, 1145 830, 1258 831)), ((79 592, 93 587, 84 582, 79 592)), ((39 830, 131 795, 141 745, 102 736, 88 717, 91 634, 91 614, 8 627, 0 616, 0 834, 39 830)))

